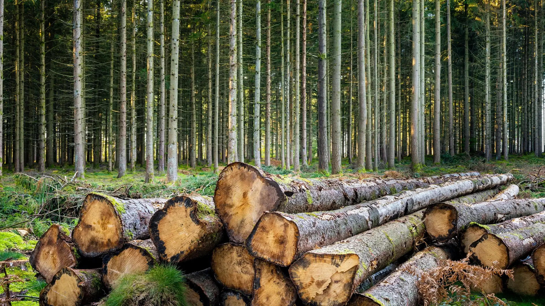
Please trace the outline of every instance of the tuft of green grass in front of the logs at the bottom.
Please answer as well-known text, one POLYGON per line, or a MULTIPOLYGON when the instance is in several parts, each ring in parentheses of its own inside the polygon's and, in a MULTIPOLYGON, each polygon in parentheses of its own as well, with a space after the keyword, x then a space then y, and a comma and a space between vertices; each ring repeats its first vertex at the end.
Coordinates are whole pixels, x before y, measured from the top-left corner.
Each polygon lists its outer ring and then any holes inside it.
POLYGON ((185 276, 173 265, 159 265, 123 277, 106 297, 106 306, 186 306, 185 276))

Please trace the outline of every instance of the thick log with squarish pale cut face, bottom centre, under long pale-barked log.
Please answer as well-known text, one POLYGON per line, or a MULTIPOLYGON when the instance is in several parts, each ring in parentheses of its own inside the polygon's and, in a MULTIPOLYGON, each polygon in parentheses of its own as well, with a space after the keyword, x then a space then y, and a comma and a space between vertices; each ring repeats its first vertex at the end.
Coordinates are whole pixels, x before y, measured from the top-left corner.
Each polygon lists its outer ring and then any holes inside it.
POLYGON ((307 252, 289 268, 301 301, 314 306, 346 304, 364 280, 423 239, 422 215, 419 211, 307 252))

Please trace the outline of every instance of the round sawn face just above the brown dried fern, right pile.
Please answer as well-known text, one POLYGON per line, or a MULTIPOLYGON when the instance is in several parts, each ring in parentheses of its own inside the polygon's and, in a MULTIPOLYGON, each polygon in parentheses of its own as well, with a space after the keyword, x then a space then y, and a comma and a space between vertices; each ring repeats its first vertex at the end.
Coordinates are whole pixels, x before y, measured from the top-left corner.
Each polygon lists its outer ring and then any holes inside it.
POLYGON ((496 235, 487 233, 469 247, 477 264, 486 267, 506 269, 509 265, 509 252, 505 243, 496 235))

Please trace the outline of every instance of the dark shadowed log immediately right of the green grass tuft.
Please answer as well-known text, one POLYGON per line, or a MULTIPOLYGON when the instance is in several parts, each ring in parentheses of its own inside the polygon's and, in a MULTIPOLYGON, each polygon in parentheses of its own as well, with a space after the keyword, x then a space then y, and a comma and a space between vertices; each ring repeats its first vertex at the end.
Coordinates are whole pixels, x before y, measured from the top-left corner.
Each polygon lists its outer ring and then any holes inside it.
POLYGON ((187 291, 185 301, 191 306, 215 306, 220 299, 220 289, 210 268, 185 276, 187 291))

